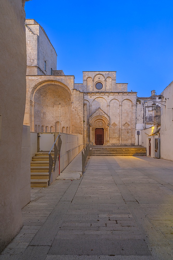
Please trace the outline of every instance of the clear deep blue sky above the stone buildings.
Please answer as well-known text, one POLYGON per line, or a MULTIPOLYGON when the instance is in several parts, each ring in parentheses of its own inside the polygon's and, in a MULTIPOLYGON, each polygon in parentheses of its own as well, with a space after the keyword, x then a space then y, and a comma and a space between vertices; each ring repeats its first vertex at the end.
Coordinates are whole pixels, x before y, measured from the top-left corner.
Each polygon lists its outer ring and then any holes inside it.
POLYGON ((82 83, 82 71, 116 71, 137 96, 160 94, 173 80, 173 1, 25 3, 57 52, 57 69, 82 83))

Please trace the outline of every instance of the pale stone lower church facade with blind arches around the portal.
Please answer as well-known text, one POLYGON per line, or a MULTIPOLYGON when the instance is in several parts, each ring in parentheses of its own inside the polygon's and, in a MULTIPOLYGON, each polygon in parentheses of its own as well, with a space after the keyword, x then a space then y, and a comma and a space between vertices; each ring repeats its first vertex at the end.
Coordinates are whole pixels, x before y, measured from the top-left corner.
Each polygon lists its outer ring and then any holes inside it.
POLYGON ((85 93, 87 104, 86 140, 89 140, 89 116, 99 107, 110 116, 110 145, 130 145, 135 143, 136 92, 85 93))

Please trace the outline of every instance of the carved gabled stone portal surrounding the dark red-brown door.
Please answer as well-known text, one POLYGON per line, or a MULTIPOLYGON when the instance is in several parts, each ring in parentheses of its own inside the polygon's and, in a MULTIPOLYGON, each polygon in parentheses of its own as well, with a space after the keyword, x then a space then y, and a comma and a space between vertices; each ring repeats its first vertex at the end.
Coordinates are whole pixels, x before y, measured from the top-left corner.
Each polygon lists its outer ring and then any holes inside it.
POLYGON ((95 129, 102 128, 104 130, 104 142, 103 145, 109 145, 109 116, 101 109, 98 108, 90 117, 90 142, 95 143, 95 129))

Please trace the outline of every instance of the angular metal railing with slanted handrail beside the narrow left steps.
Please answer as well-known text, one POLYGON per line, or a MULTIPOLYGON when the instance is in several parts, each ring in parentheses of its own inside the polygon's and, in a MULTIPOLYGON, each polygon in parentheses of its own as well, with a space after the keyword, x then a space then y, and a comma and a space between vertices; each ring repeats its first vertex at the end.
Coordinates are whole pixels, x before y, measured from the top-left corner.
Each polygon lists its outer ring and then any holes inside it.
POLYGON ((55 169, 58 155, 59 155, 59 174, 60 174, 60 150, 61 150, 61 144, 62 144, 62 140, 60 138, 60 135, 58 135, 56 140, 54 141, 54 144, 52 145, 52 148, 50 149, 50 152, 49 152, 49 184, 50 184, 50 180, 51 180, 53 162, 54 162, 54 169, 55 169), (56 141, 57 140, 58 140, 58 145, 56 145, 56 141), (53 147, 54 147, 54 160, 53 160, 52 155, 51 155, 51 151, 52 151, 53 147))

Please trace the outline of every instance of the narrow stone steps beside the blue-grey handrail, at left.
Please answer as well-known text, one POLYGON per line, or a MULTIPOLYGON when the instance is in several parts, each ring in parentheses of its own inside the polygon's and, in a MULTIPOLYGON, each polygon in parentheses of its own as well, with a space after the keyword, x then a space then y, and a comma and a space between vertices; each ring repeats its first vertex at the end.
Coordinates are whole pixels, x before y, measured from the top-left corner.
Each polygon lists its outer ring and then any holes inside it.
MULTIPOLYGON (((51 154, 54 158, 54 153, 51 154)), ((48 152, 38 152, 31 161, 31 187, 47 187, 48 182, 49 154, 48 152)))

